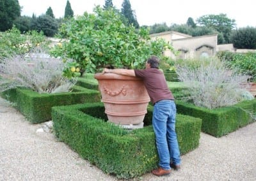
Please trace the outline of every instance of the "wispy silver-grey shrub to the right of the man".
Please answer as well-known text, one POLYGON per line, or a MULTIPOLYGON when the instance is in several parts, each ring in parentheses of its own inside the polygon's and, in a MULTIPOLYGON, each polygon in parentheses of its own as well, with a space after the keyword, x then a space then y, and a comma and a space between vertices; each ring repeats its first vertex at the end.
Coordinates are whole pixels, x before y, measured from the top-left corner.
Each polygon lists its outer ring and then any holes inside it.
POLYGON ((246 75, 233 73, 218 59, 184 60, 177 62, 180 81, 188 87, 186 101, 196 106, 219 108, 243 101, 246 75))

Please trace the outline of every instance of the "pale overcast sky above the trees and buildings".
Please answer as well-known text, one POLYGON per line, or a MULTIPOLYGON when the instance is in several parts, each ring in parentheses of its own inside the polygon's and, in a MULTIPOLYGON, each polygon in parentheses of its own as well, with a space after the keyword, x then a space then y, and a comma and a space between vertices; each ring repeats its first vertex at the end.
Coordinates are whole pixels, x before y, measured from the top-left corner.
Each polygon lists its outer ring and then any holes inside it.
MULTIPOLYGON (((113 0, 113 5, 119 10, 124 0, 113 0)), ((153 25, 165 22, 186 24, 189 17, 196 19, 203 15, 227 14, 236 20, 237 27, 256 27, 255 0, 130 0, 131 8, 135 11, 140 25, 153 25)), ((69 0, 74 15, 83 15, 84 11, 92 13, 95 5, 103 6, 105 0, 69 0)), ((56 18, 64 17, 67 0, 19 0, 22 6, 21 15, 32 17, 42 15, 51 6, 56 18)))

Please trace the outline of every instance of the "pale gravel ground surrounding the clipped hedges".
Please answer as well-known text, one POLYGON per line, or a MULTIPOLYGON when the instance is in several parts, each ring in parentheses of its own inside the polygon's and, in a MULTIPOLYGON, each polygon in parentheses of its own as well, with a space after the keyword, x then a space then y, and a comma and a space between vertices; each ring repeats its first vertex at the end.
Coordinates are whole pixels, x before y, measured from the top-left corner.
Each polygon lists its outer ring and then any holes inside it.
MULTIPOLYGON (((52 133, 38 132, 0 98, 0 180, 118 180, 81 159, 52 133)), ((133 180, 256 180, 256 122, 221 138, 201 133, 198 148, 168 176, 133 180)))

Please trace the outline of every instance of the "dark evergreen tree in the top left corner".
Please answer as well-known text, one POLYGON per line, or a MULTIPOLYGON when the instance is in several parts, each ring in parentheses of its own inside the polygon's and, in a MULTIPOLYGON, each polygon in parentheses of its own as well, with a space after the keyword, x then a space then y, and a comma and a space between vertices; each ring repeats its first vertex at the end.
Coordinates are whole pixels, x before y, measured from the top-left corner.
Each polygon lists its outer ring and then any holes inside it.
POLYGON ((19 1, 0 0, 0 31, 11 29, 17 17, 20 17, 19 1))

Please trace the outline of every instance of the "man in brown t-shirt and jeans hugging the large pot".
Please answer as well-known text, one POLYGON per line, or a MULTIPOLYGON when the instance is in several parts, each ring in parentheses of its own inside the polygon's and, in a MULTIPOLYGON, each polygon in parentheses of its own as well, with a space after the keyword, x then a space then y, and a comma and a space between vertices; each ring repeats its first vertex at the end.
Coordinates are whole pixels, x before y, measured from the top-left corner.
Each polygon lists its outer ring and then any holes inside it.
POLYGON ((164 74, 159 69, 159 59, 152 55, 145 69, 104 69, 103 73, 137 76, 143 79, 151 102, 154 105, 153 128, 159 156, 159 168, 152 173, 168 175, 171 168, 180 168, 180 150, 175 133, 176 106, 172 92, 168 88, 164 74))

